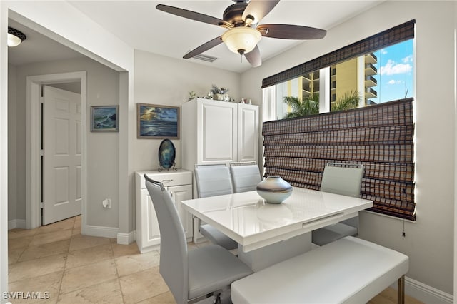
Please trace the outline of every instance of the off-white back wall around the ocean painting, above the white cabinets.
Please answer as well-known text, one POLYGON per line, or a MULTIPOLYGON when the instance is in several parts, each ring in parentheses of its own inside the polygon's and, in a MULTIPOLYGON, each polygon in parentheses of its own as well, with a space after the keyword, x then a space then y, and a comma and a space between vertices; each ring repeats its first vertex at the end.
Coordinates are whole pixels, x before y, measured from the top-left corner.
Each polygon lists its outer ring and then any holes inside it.
MULTIPOLYGON (((181 106, 189 99, 189 91, 206 96, 211 84, 229 88, 229 95, 241 99, 240 74, 194 64, 184 59, 171 59, 145 51, 135 51, 135 102, 181 106)), ((176 148, 176 167, 181 168, 181 140, 172 140, 176 148)), ((161 140, 136 139, 134 171, 157 170, 161 140)), ((185 151, 183 151, 185 153, 185 151)))

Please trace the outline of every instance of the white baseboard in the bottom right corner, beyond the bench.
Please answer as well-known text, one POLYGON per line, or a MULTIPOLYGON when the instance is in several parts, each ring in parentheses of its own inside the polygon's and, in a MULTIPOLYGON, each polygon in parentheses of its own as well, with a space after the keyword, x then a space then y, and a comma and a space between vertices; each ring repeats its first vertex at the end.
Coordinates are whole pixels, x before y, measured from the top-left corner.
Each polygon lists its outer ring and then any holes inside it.
POLYGON ((423 303, 452 304, 453 295, 433 288, 412 278, 405 278, 405 293, 423 303))

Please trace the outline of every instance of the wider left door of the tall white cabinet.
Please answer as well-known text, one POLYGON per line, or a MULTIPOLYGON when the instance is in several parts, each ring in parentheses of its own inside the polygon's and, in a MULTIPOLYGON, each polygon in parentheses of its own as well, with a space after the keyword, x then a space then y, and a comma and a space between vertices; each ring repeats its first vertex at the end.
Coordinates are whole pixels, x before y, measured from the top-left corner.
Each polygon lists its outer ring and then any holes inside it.
POLYGON ((201 101, 197 119, 197 160, 200 164, 236 161, 236 103, 201 101))

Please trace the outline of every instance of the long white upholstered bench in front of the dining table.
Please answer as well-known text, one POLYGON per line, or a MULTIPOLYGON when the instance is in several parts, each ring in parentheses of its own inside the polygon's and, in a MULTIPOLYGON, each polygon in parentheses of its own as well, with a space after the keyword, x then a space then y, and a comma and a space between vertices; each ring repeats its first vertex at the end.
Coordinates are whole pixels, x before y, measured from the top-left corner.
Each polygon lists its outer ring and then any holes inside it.
POLYGON ((241 303, 367 303, 398 280, 404 303, 408 256, 348 236, 236 280, 231 300, 241 303))

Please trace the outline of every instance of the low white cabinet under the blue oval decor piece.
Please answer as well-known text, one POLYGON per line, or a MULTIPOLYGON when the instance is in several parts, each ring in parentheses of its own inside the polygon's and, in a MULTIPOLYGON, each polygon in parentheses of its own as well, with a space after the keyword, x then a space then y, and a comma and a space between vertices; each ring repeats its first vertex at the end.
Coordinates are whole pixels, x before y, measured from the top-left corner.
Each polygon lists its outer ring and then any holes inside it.
POLYGON ((181 201, 192 198, 192 173, 179 169, 172 171, 138 171, 135 174, 136 194, 136 244, 141 253, 156 250, 160 246, 160 230, 156 211, 144 183, 144 173, 155 181, 161 181, 170 192, 181 218, 184 233, 192 239, 192 216, 181 208, 181 201))

